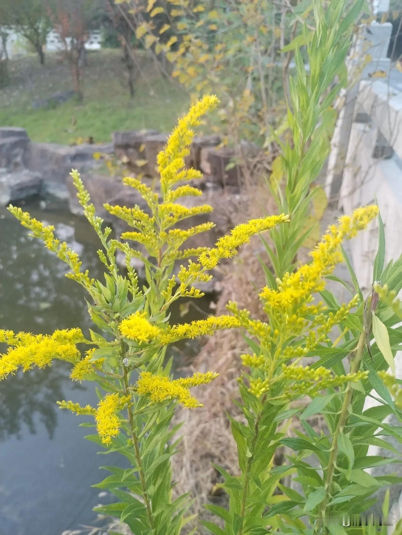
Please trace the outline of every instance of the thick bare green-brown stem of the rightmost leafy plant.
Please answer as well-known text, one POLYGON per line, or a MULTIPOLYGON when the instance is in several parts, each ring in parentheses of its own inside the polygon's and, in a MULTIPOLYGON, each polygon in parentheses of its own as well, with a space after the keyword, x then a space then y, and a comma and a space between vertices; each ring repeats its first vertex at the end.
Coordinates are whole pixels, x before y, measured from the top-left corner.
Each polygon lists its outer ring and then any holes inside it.
MULTIPOLYGON (((364 354, 365 348, 366 348, 366 332, 363 331, 360 334, 358 346, 356 347, 356 350, 354 351, 354 357, 351 363, 350 373, 357 373, 359 371, 360 364, 363 360, 363 354, 364 354)), ((337 429, 332 439, 331 453, 330 453, 330 458, 328 461, 328 468, 326 471, 325 483, 324 483, 325 496, 324 496, 324 500, 321 502, 319 513, 318 513, 318 518, 320 519, 323 518, 324 516, 326 505, 331 496, 332 480, 333 480, 333 475, 334 475, 334 470, 335 470, 335 463, 336 463, 337 455, 338 455, 338 436, 339 436, 339 433, 343 432, 345 428, 347 418, 349 415, 349 406, 352 401, 352 396, 353 396, 352 384, 348 383, 346 387, 346 391, 345 391, 344 402, 340 410, 337 429)))

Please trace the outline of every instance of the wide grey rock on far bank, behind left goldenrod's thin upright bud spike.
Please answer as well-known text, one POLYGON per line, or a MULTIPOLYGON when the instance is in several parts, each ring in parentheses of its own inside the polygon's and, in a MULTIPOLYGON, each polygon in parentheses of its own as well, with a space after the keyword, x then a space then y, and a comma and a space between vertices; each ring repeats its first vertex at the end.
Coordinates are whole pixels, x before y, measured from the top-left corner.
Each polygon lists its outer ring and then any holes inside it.
POLYGON ((67 179, 72 169, 86 173, 96 169, 100 162, 93 158, 94 152, 111 154, 111 144, 83 144, 66 147, 56 143, 31 143, 27 151, 27 167, 40 172, 43 189, 58 198, 68 199, 67 179))

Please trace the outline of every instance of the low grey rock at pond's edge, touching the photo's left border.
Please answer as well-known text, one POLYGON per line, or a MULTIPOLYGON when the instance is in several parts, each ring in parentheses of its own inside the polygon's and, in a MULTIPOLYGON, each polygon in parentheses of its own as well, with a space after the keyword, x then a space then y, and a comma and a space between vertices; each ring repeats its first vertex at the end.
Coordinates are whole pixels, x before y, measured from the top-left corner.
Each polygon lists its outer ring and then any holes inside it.
POLYGON ((42 177, 27 169, 18 172, 3 171, 0 174, 0 204, 20 201, 41 193, 42 177))

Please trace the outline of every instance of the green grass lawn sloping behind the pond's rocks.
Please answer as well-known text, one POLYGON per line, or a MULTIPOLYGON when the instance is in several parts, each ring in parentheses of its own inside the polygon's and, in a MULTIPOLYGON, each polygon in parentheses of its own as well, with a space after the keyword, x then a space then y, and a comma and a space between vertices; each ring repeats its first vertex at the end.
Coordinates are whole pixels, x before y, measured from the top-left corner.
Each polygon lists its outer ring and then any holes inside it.
POLYGON ((142 59, 136 95, 130 98, 120 50, 88 52, 84 101, 36 110, 32 102, 71 89, 70 68, 50 53, 41 66, 36 56, 10 60, 10 85, 0 91, 0 126, 26 128, 33 141, 69 144, 93 136, 109 142, 111 132, 156 128, 170 132, 189 106, 189 97, 161 79, 153 63, 142 59))

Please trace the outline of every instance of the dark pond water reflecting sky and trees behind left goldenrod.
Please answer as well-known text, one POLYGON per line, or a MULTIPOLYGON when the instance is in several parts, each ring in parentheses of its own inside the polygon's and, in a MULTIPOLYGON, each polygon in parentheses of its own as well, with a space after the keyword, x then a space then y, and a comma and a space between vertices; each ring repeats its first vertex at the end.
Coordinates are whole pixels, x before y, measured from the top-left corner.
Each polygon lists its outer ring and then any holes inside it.
MULTIPOLYGON (((83 218, 72 216, 59 202, 21 207, 53 224, 57 238, 81 256, 91 277, 103 279, 97 237, 83 218)), ((0 328, 37 334, 81 327, 87 333, 93 325, 85 291, 64 277, 65 268, 0 207, 0 328)), ((206 297, 197 300, 199 309, 182 304, 172 311, 171 321, 204 317, 210 302, 206 297), (187 314, 181 319, 183 312, 187 314)), ((173 350, 177 367, 186 363, 183 355, 191 357, 197 348, 186 343, 173 350)), ((84 440, 88 429, 78 424, 91 418, 58 409, 56 401, 63 399, 97 403, 94 384, 72 383, 65 364, 55 361, 47 369, 17 373, 0 383, 1 535, 61 535, 83 524, 94 525, 92 508, 110 500, 100 498, 91 485, 108 475, 100 465, 121 460, 114 454, 97 456, 98 446, 84 440)))

